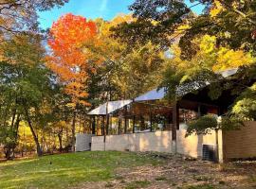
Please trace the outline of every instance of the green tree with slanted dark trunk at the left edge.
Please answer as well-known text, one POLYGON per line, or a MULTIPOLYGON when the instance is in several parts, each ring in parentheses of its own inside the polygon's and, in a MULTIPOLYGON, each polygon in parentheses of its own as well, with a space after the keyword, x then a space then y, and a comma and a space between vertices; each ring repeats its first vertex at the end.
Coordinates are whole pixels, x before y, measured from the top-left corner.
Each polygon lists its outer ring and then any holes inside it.
POLYGON ((41 38, 20 34, 2 43, 1 49, 1 127, 14 130, 16 143, 19 123, 26 121, 41 156, 37 131, 46 126, 50 112, 44 109, 44 105, 50 104, 55 89, 51 74, 44 65, 45 49, 41 38))

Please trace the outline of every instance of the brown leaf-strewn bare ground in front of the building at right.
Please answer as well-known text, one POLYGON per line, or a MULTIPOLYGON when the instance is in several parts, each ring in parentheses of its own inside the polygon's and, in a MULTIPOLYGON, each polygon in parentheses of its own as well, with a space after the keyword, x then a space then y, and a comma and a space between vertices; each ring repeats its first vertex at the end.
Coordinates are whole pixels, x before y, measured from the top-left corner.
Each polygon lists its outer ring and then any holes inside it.
POLYGON ((256 188, 256 162, 209 163, 182 156, 138 153, 162 159, 161 165, 117 168, 113 180, 84 183, 79 188, 256 188))

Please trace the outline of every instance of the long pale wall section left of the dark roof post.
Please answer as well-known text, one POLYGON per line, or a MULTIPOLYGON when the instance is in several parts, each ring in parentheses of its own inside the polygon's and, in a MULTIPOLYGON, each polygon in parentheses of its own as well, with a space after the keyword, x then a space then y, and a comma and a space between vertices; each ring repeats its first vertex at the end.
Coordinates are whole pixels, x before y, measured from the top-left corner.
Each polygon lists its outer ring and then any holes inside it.
MULTIPOLYGON (((92 137, 92 151, 104 150, 104 137, 92 137)), ((105 150, 172 152, 172 131, 106 136, 105 150)))

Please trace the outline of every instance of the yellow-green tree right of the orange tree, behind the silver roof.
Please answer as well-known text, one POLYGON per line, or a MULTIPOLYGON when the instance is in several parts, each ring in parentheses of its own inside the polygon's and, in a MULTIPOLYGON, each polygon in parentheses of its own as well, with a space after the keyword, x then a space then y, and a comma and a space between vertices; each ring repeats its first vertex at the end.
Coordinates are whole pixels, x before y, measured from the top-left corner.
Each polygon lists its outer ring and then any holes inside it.
POLYGON ((129 51, 127 44, 113 37, 111 28, 124 21, 132 22, 133 18, 129 14, 120 14, 110 22, 97 19, 95 22, 100 43, 84 45, 87 51, 102 60, 101 64, 96 65, 96 72, 93 74, 94 78, 100 79, 98 83, 94 82, 92 92, 96 89, 95 86, 99 86, 101 92, 97 91, 97 94, 104 96, 104 100, 106 94, 110 94, 110 100, 133 98, 154 89, 160 82, 159 71, 162 69, 163 59, 160 51, 155 52, 155 45, 148 43, 129 51))

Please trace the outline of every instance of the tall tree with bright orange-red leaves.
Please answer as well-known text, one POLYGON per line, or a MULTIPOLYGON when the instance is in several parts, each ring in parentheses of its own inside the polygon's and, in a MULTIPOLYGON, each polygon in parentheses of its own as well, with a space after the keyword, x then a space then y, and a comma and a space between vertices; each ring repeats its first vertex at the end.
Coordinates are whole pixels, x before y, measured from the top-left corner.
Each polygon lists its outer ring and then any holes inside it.
POLYGON ((51 55, 47 66, 64 83, 65 93, 72 97, 72 105, 89 105, 84 99, 88 71, 92 71, 91 54, 84 51, 84 43, 94 43, 97 38, 97 26, 87 22, 86 18, 71 13, 65 14, 50 28, 48 45, 51 55))

